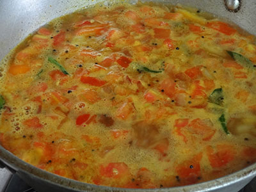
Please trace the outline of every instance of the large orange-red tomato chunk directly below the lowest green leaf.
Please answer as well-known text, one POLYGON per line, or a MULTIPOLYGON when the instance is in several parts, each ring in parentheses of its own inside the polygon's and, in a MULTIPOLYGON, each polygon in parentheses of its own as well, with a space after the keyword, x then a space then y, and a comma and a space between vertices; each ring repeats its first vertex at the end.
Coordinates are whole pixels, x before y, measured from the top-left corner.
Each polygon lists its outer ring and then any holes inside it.
POLYGON ((207 156, 212 168, 221 168, 226 166, 235 157, 236 150, 232 145, 217 145, 216 150, 207 147, 207 156))

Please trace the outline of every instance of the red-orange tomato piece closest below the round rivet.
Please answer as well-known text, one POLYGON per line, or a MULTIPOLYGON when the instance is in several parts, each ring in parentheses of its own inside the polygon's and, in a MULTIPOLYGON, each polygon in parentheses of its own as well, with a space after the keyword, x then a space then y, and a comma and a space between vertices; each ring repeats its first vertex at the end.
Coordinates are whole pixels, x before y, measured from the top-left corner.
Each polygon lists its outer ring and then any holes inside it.
POLYGON ((208 22, 207 27, 220 31, 220 33, 224 33, 225 35, 234 35, 236 33, 236 29, 221 21, 208 22))

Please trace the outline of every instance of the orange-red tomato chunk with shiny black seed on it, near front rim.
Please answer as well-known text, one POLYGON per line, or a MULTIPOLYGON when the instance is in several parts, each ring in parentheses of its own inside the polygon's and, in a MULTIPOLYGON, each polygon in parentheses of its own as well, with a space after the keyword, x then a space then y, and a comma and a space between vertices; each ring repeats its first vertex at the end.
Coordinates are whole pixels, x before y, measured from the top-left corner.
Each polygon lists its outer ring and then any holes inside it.
POLYGON ((183 184, 195 184, 201 175, 200 161, 202 153, 197 154, 193 159, 184 161, 176 167, 180 182, 183 184))

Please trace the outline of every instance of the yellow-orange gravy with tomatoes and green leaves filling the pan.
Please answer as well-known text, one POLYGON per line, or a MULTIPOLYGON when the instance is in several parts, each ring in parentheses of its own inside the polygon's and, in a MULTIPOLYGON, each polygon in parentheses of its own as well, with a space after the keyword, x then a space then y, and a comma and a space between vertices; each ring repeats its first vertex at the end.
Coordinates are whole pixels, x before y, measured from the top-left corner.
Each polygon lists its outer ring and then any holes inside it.
POLYGON ((166 188, 256 160, 253 36, 182 6, 96 6, 53 20, 1 68, 0 141, 91 184, 166 188))

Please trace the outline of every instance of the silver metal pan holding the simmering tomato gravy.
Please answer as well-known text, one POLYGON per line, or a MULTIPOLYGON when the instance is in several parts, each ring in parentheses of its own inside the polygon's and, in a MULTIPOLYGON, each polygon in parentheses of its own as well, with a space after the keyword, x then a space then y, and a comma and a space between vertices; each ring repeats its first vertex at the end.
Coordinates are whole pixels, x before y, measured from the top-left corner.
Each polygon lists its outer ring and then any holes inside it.
MULTIPOLYGON (((19 44, 19 42, 40 26, 50 20, 74 12, 80 8, 92 6, 102 0, 1 0, 0 1, 0 60, 19 44)), ((104 1, 108 6, 113 1, 104 1)), ((136 3, 130 0, 130 3, 136 3)), ((256 1, 255 0, 158 0, 155 2, 185 4, 194 6, 199 10, 213 13, 237 24, 245 31, 256 35, 256 1), (230 9, 231 8, 231 9, 230 9)), ((19 146, 17 146, 19 147, 19 146)), ((21 161, 0 146, 0 167, 5 167, 17 173, 31 187, 39 192, 45 191, 221 191, 236 192, 243 188, 256 176, 256 164, 252 164, 219 179, 163 189, 123 189, 109 188, 86 184, 76 180, 67 179, 40 170, 31 164, 21 161)))

